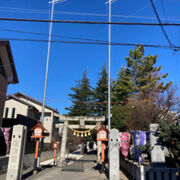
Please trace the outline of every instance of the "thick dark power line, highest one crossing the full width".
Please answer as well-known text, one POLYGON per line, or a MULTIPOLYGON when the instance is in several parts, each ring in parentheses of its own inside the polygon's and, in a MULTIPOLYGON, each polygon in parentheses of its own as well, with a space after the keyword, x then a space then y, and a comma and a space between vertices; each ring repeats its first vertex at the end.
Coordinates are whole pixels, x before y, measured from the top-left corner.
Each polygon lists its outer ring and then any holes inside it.
MULTIPOLYGON (((159 16, 158 16, 159 17, 159 16)), ((41 23, 74 23, 74 24, 112 24, 130 26, 180 26, 180 23, 147 23, 147 22, 106 22, 106 21, 77 21, 77 20, 48 20, 48 19, 24 19, 24 18, 0 18, 0 21, 41 22, 41 23)))

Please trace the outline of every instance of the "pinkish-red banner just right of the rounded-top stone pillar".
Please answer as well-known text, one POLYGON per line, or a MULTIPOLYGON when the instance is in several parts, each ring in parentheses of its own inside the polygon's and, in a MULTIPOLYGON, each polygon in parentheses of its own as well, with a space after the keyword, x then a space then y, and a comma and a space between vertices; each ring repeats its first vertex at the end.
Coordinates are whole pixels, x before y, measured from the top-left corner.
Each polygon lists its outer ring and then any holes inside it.
POLYGON ((130 147, 130 134, 127 132, 120 133, 120 148, 124 157, 128 156, 130 147))

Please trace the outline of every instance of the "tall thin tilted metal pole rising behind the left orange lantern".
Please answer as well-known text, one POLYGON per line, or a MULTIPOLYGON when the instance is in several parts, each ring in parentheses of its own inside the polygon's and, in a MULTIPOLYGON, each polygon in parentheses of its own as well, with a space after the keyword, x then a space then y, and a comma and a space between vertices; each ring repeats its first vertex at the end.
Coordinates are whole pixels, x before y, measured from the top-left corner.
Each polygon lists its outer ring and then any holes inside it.
MULTIPOLYGON (((45 113, 45 103, 46 103, 46 91, 47 91, 47 80, 48 80, 48 70, 49 70, 49 57, 50 57, 50 49, 51 49, 51 34, 52 34, 52 21, 54 16, 54 4, 59 2, 64 2, 66 0, 52 0, 49 4, 52 4, 51 7, 51 17, 50 17, 50 25, 49 25, 49 39, 48 39, 48 50, 47 50, 47 61, 46 61, 46 74, 45 74, 45 83, 44 83, 44 96, 43 96, 43 105, 42 105, 42 113, 41 113, 41 123, 44 123, 44 113, 45 113)), ((42 147, 42 138, 39 141, 39 153, 37 159, 37 169, 40 167, 40 156, 41 156, 41 147, 42 147)))

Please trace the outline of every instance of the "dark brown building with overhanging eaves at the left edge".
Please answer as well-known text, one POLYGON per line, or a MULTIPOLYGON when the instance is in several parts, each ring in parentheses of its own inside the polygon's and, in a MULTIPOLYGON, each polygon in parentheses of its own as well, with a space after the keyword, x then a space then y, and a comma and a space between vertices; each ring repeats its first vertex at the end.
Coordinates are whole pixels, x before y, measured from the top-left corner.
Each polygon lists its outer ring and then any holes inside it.
POLYGON ((0 127, 2 127, 8 85, 17 83, 18 77, 9 41, 0 40, 0 127))

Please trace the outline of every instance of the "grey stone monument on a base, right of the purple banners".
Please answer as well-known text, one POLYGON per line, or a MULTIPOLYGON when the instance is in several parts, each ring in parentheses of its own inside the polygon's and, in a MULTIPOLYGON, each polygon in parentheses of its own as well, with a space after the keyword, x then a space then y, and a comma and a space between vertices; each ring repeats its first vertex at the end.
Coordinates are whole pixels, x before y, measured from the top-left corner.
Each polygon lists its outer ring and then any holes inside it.
POLYGON ((150 124, 151 166, 165 167, 165 154, 158 137, 159 124, 150 124))

